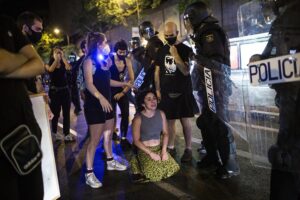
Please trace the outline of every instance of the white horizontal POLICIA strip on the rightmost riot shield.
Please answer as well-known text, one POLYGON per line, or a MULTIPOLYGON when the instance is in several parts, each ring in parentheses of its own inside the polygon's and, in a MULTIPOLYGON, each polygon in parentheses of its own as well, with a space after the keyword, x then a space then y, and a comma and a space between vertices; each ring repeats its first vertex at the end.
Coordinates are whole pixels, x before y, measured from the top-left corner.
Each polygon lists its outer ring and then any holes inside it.
POLYGON ((248 64, 253 86, 300 81, 300 53, 248 64))

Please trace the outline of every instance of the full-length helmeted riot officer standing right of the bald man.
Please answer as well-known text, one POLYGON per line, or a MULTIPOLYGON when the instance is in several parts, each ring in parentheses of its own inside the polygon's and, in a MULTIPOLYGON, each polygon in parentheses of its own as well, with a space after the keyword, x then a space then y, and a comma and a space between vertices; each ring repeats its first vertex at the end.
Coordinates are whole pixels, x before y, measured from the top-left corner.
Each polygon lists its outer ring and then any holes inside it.
POLYGON ((211 10, 203 2, 195 2, 187 6, 184 11, 184 25, 195 43, 196 67, 202 88, 205 88, 202 95, 204 98, 202 114, 197 119, 197 126, 201 130, 207 155, 198 163, 198 167, 213 169, 219 178, 229 178, 226 165, 229 160, 230 141, 229 129, 225 123, 228 122, 227 106, 231 86, 227 36, 218 25, 218 20, 212 16, 211 10), (210 84, 214 87, 213 94, 205 84, 207 78, 210 78, 210 83, 213 83, 210 84))

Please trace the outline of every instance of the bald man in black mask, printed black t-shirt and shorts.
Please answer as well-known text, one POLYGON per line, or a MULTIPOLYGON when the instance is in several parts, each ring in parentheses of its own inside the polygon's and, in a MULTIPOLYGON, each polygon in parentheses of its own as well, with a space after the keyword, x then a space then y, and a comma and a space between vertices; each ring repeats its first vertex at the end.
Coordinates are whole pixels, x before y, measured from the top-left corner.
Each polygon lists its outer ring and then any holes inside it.
POLYGON ((196 101, 192 93, 192 83, 189 74, 188 59, 191 49, 177 40, 178 30, 173 22, 165 24, 165 44, 157 52, 155 60, 155 88, 162 109, 168 119, 169 144, 168 150, 175 155, 175 121, 180 119, 185 138, 185 151, 181 162, 192 160, 192 127, 196 101), (180 106, 178 106, 180 105, 180 106))

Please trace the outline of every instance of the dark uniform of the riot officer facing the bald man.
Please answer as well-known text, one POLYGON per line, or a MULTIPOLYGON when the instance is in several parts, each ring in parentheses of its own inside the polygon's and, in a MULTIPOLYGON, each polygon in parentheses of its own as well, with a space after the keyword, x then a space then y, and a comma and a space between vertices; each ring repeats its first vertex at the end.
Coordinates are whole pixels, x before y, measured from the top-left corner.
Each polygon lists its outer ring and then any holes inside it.
MULTIPOLYGON (((209 23, 203 23, 195 31, 195 48, 197 51, 196 61, 199 68, 201 68, 201 82, 202 88, 205 86, 205 75, 203 67, 211 66, 213 81, 220 78, 224 79, 225 72, 219 69, 214 69, 217 65, 213 66, 212 62, 230 64, 229 60, 229 47, 226 34, 222 28, 217 24, 217 20, 209 23), (215 73, 214 70, 217 72, 215 73), (219 78, 218 78, 219 76, 219 78)), ((219 65, 220 66, 220 65, 219 65)), ((229 73, 230 74, 230 73, 229 73)), ((215 103, 217 113, 213 113, 208 105, 207 90, 203 90, 203 107, 202 114, 197 120, 197 125, 201 129, 204 146, 207 151, 206 158, 209 162, 219 166, 219 156, 222 161, 222 166, 225 168, 229 159, 230 144, 228 133, 229 129, 224 122, 228 122, 228 97, 230 88, 227 85, 214 83, 215 103), (219 153, 219 155, 218 155, 219 153)), ((223 169, 224 169, 223 168, 223 169)), ((225 171, 221 173, 226 173, 225 171)))

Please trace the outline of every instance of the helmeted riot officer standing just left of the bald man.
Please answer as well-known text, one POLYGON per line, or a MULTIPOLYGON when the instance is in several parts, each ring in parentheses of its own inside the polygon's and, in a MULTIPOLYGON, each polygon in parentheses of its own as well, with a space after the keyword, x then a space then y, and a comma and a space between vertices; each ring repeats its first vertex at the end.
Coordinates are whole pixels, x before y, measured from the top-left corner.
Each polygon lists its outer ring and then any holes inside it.
POLYGON ((145 53, 140 59, 146 73, 144 82, 140 89, 149 89, 154 87, 154 60, 156 52, 163 46, 163 42, 158 38, 157 32, 150 21, 144 21, 139 25, 140 36, 147 40, 145 53))

